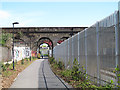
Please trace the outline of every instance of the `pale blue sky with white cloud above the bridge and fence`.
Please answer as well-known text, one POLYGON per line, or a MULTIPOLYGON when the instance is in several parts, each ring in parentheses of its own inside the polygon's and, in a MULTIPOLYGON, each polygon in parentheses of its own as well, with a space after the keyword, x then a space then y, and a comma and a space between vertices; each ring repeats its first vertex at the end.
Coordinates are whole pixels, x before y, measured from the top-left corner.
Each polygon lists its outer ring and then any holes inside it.
POLYGON ((0 27, 88 27, 117 9, 118 2, 2 2, 0 27))

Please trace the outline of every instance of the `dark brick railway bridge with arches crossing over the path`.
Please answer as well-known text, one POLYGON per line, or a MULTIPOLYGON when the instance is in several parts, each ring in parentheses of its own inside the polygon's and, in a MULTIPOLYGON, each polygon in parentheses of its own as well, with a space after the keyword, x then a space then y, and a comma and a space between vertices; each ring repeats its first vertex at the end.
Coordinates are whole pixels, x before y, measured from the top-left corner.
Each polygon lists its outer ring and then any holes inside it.
MULTIPOLYGON (((42 43, 53 47, 87 27, 12 27, 2 28, 3 33, 14 33, 15 44, 24 43, 36 51, 42 43)), ((12 46, 12 45, 11 45, 12 46)))

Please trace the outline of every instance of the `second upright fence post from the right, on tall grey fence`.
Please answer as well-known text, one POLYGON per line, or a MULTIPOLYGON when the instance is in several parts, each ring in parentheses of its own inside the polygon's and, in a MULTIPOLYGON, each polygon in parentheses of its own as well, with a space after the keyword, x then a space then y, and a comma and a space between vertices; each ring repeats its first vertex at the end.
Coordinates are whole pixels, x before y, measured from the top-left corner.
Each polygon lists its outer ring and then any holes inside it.
POLYGON ((96 23, 96 45, 97 45, 97 83, 100 84, 100 57, 99 57, 99 22, 96 23))

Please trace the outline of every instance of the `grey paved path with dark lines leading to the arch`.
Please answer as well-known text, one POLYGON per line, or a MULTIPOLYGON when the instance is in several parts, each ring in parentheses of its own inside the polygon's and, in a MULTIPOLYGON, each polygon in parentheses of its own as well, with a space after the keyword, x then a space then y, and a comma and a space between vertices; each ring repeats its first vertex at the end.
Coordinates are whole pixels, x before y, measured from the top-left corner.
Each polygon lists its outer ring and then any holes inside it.
POLYGON ((11 88, 71 88, 71 86, 54 75, 47 59, 39 59, 18 75, 11 88))

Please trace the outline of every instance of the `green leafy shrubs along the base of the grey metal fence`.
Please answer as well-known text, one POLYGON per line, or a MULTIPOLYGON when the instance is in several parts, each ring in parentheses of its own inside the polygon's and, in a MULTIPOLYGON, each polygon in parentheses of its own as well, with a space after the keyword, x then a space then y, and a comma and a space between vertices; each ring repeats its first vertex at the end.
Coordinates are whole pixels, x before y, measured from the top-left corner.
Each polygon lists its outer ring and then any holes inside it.
MULTIPOLYGON (((96 86, 92 84, 91 81, 89 80, 89 76, 87 76, 86 74, 86 70, 84 66, 80 66, 77 59, 74 59, 72 69, 61 69, 62 65, 64 64, 60 60, 57 63, 53 57, 49 58, 49 62, 54 70, 53 72, 56 73, 57 75, 60 75, 66 82, 68 82, 75 88, 112 90, 112 88, 114 87, 112 80, 110 84, 106 84, 104 86, 96 86)), ((120 69, 116 69, 116 70, 120 70, 120 69)))

